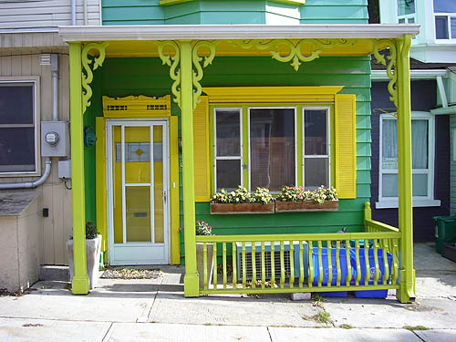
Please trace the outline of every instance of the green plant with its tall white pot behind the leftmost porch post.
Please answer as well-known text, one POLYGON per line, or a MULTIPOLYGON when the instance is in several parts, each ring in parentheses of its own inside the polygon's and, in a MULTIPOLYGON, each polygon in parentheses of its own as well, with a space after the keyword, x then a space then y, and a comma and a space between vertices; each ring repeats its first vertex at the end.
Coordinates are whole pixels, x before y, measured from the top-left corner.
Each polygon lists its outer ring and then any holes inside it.
MULTIPOLYGON (((98 265, 101 254, 101 235, 98 234, 97 227, 94 223, 86 223, 86 263, 88 278, 90 280, 90 289, 97 286, 98 283, 98 265)), ((69 266, 69 281, 75 276, 73 236, 67 241, 67 255, 69 266)))

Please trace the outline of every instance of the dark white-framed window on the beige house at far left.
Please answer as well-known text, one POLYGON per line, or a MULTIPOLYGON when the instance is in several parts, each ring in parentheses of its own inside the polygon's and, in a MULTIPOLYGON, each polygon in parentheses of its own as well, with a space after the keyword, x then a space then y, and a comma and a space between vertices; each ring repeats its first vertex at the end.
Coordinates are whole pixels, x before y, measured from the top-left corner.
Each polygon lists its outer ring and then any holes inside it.
POLYGON ((36 174, 36 79, 0 78, 0 174, 36 174))

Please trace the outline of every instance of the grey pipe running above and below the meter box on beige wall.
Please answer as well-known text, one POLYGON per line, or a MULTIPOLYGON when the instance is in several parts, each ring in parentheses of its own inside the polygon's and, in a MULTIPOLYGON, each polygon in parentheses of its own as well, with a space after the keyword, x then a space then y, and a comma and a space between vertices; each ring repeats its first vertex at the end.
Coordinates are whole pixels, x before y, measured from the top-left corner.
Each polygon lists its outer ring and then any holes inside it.
MULTIPOLYGON (((76 0, 73 0, 76 1, 76 0)), ((52 72, 52 120, 58 121, 58 55, 51 55, 52 72)), ((5 189, 31 189, 43 184, 51 173, 51 159, 45 159, 45 172, 37 181, 27 181, 21 183, 0 184, 0 190, 5 189)))

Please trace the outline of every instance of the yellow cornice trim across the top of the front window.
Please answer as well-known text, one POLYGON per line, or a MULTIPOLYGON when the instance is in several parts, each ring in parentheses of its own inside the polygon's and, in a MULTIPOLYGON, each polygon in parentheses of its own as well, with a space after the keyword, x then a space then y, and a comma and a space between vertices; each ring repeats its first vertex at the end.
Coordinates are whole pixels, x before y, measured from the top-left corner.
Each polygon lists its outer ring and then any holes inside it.
POLYGON ((226 87, 202 88, 214 103, 256 102, 334 102, 335 95, 343 86, 322 87, 226 87))

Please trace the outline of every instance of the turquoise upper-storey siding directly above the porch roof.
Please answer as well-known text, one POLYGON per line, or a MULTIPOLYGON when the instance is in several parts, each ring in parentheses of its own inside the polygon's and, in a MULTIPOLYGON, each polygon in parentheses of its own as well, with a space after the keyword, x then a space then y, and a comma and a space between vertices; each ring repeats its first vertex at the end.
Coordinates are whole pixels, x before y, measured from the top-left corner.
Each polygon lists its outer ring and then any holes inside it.
POLYGON ((367 0, 195 0, 161 6, 159 0, 103 0, 103 25, 368 24, 367 0))

